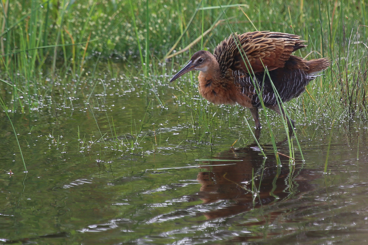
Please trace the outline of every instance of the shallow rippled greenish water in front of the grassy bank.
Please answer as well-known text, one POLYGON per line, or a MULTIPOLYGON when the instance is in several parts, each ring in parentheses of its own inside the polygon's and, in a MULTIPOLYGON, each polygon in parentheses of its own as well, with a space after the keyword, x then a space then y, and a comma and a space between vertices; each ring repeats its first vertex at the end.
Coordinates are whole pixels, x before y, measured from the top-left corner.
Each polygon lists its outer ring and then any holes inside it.
MULTIPOLYGON (((11 114, 27 174, 2 120, 1 244, 367 242, 367 124, 297 118, 302 154, 293 140, 295 161, 279 155, 278 166, 267 127, 266 158, 254 143, 247 110, 156 84, 112 80, 89 103, 11 114)), ((272 128, 289 155, 280 122, 272 128)))

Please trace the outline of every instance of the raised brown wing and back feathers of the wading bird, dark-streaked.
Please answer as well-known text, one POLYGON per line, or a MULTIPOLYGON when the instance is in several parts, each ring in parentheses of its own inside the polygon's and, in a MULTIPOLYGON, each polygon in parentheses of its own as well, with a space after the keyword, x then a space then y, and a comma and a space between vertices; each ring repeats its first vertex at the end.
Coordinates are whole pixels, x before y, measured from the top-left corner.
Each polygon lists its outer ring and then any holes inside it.
POLYGON ((306 47, 304 42, 300 36, 281 32, 234 33, 215 48, 214 55, 223 76, 229 69, 249 73, 252 68, 255 73, 262 72, 263 65, 272 71, 282 68, 291 53, 306 47))

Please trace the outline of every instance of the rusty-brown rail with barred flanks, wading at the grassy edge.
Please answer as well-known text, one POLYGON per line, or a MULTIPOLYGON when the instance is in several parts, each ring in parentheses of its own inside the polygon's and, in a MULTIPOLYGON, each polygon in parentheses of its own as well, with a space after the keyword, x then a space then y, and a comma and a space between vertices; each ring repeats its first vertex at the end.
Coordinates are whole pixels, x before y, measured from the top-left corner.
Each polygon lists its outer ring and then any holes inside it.
POLYGON ((331 64, 329 58, 305 60, 292 55, 307 47, 305 42, 298 35, 282 32, 232 33, 213 54, 205 50, 194 53, 170 83, 187 72, 199 71, 198 90, 206 100, 250 109, 256 129, 261 129, 258 109, 262 108, 262 98, 266 108, 286 118, 289 130, 296 129, 278 98, 284 103, 300 96, 331 64))

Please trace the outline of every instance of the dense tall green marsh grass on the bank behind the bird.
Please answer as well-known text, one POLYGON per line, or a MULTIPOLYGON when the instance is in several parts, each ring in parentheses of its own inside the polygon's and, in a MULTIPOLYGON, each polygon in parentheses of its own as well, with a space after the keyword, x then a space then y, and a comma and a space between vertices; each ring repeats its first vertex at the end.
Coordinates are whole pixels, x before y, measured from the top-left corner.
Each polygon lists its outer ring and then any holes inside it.
POLYGON ((304 0, 245 4, 7 0, 1 8, 1 96, 5 102, 14 101, 12 110, 37 103, 40 96, 72 87, 78 91, 81 81, 97 78, 100 66, 114 69, 114 62, 135 67, 144 74, 138 79, 146 83, 163 72, 171 75, 159 66, 165 58, 166 65, 176 68, 197 50, 212 51, 230 35, 228 21, 238 33, 272 30, 300 35, 308 47, 297 55, 332 59, 325 75, 307 87, 308 107, 326 110, 322 106, 328 105, 349 117, 367 116, 368 3, 364 0, 313 4, 304 0), (173 56, 181 50, 185 52, 173 56), (65 88, 54 86, 66 80, 74 82, 65 88))

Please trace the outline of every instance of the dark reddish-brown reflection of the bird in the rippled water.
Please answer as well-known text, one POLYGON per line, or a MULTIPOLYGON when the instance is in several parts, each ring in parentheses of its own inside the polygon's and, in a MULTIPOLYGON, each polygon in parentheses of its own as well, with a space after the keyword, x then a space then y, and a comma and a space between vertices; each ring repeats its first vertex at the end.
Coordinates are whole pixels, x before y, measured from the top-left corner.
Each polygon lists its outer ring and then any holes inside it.
MULTIPOLYGON (((314 189, 314 185, 310 184, 310 180, 318 176, 314 170, 289 165, 290 158, 283 155, 279 155, 282 166, 277 167, 275 154, 271 147, 269 149, 267 158, 254 146, 229 149, 217 154, 213 161, 204 162, 210 166, 201 166, 204 171, 197 177, 201 184, 197 197, 204 204, 230 201, 219 209, 205 212, 207 219, 231 217, 264 205, 294 199, 296 195, 314 189)), ((263 222, 265 220, 258 223, 263 222)))

